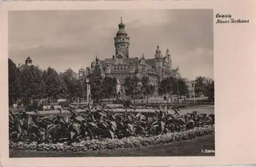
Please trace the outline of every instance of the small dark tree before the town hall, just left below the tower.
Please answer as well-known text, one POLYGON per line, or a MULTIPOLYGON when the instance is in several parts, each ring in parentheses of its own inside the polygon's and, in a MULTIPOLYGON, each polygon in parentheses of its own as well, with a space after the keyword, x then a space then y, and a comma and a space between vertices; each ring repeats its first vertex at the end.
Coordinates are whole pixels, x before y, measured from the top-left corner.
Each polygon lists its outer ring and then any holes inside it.
POLYGON ((110 98, 111 96, 116 95, 116 78, 111 78, 111 77, 104 77, 102 80, 102 86, 103 86, 103 97, 104 98, 110 98))

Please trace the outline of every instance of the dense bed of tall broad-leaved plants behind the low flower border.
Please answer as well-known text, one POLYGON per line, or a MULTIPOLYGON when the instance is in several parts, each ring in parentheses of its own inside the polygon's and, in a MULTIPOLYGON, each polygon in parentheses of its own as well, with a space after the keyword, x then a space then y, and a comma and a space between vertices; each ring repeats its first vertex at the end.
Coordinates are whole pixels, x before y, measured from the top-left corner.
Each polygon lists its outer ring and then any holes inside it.
MULTIPOLYGON (((198 112, 180 115, 178 110, 165 108, 154 113, 123 112, 113 110, 88 109, 76 112, 41 116, 37 112, 9 113, 9 141, 11 143, 37 145, 42 143, 80 143, 82 141, 104 141, 106 138, 121 140, 129 137, 148 137, 160 134, 173 134, 203 128, 215 124, 214 114, 198 112)), ((125 140, 125 139, 124 139, 125 140)), ((90 143, 90 142, 89 142, 90 143)))

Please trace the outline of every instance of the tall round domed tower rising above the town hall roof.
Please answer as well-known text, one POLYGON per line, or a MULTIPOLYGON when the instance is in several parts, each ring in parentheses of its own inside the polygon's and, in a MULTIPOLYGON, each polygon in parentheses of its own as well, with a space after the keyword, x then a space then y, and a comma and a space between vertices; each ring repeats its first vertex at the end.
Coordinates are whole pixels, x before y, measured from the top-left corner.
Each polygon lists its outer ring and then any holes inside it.
POLYGON ((114 37, 114 44, 116 48, 116 58, 129 58, 129 45, 130 45, 130 37, 124 30, 124 23, 122 21, 118 24, 119 30, 114 37))

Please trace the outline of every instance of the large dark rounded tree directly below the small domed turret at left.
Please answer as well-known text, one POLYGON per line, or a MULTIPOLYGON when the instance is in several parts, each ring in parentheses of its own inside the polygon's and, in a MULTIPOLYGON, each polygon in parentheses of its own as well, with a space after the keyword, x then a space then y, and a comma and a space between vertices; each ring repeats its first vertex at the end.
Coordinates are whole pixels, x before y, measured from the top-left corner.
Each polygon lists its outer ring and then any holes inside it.
POLYGON ((31 99, 45 97, 45 82, 42 79, 42 72, 37 67, 30 66, 21 70, 19 81, 25 104, 29 104, 31 99))

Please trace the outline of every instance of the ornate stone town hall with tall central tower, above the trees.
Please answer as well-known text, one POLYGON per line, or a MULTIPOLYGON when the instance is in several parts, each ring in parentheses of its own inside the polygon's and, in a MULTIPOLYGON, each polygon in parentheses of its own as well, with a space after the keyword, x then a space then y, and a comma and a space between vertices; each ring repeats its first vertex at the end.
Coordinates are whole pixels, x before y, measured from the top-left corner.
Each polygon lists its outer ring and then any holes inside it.
MULTIPOLYGON (((173 68, 172 57, 168 48, 162 53, 160 46, 156 46, 154 57, 146 59, 142 53, 139 57, 129 54, 130 37, 125 31, 125 24, 122 19, 118 24, 118 31, 114 37, 115 54, 112 58, 99 60, 96 56, 91 67, 79 70, 79 78, 84 78, 89 71, 100 70, 102 77, 116 77, 120 82, 120 89, 126 77, 137 76, 139 79, 148 77, 151 85, 158 88, 159 82, 168 76, 180 78, 179 67, 173 68)), ((152 57, 152 56, 151 56, 152 57)))

